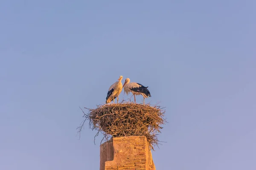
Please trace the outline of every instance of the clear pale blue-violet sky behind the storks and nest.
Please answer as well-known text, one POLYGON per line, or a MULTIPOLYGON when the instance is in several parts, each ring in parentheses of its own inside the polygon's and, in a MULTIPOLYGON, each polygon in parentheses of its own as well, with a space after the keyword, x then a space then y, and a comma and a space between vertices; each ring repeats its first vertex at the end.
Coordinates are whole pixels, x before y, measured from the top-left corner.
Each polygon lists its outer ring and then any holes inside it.
POLYGON ((157 170, 255 170, 255 9, 255 0, 2 0, 0 169, 99 170, 102 136, 94 145, 86 125, 78 140, 79 106, 103 104, 122 75, 166 107, 157 170))

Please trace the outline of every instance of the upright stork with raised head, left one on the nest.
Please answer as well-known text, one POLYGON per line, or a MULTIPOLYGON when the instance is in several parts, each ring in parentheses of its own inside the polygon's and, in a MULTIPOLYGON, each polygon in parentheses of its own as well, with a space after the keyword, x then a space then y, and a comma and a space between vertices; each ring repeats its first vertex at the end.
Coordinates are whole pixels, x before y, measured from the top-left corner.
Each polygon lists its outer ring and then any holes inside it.
POLYGON ((122 91, 122 76, 119 77, 118 81, 115 82, 113 85, 110 86, 108 89, 108 94, 106 98, 106 103, 110 103, 113 100, 113 103, 115 103, 115 99, 117 97, 117 103, 118 103, 118 96, 122 91))

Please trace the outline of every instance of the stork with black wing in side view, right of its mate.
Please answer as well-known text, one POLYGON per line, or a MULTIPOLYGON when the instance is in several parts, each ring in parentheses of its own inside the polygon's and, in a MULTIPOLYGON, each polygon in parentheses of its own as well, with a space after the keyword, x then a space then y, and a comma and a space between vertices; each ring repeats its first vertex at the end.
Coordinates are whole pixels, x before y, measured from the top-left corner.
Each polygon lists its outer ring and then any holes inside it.
POLYGON ((145 98, 151 97, 150 92, 148 91, 148 87, 145 87, 137 82, 130 82, 130 79, 125 79, 125 83, 123 85, 125 93, 128 95, 130 92, 134 95, 134 102, 136 103, 135 95, 143 96, 143 104, 145 104, 145 98))

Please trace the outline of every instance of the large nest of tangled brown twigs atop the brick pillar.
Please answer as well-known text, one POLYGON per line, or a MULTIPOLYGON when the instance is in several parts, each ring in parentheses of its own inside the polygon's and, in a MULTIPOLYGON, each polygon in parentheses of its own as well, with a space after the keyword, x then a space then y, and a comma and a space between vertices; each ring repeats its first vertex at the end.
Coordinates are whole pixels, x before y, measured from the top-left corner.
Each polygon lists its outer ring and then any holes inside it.
POLYGON ((88 113, 84 113, 86 119, 78 127, 79 133, 84 122, 89 120, 90 129, 97 130, 96 136, 103 133, 102 141, 108 141, 112 136, 145 136, 154 150, 153 146, 159 144, 157 133, 163 128, 161 125, 166 123, 164 113, 163 108, 157 105, 130 102, 98 105, 96 109, 88 109, 88 113))

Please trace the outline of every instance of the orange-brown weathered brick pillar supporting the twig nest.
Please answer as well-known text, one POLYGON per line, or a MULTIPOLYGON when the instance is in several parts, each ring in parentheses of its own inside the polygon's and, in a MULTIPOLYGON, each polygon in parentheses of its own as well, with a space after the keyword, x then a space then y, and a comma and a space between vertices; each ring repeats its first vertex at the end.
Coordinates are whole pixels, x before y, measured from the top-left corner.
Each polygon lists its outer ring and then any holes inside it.
POLYGON ((155 170, 145 136, 115 137, 100 145, 100 170, 155 170))

